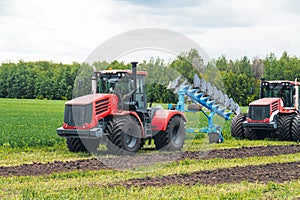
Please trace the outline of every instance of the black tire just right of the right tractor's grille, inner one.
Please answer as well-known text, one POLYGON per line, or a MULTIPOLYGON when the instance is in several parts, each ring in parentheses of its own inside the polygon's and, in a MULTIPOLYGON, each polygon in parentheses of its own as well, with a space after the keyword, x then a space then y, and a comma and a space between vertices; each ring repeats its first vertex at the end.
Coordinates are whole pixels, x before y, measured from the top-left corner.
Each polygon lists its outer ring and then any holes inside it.
POLYGON ((291 140, 292 139, 292 122, 295 114, 287 114, 279 116, 278 127, 275 131, 275 135, 278 136, 279 140, 291 140))

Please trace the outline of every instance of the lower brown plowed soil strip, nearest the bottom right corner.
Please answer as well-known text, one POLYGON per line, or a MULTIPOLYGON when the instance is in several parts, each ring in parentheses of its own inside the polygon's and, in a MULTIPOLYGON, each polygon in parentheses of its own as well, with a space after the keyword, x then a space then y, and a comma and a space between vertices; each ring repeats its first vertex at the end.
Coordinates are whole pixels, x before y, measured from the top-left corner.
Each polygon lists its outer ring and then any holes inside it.
POLYGON ((195 185, 207 184, 215 185, 222 183, 238 183, 242 181, 249 182, 284 182, 300 178, 300 162, 291 163, 272 163, 266 165, 248 165, 245 167, 232 167, 225 169, 216 169, 210 171, 199 171, 189 174, 173 174, 160 178, 130 179, 109 186, 125 186, 130 188, 156 186, 163 187, 167 185, 195 185))

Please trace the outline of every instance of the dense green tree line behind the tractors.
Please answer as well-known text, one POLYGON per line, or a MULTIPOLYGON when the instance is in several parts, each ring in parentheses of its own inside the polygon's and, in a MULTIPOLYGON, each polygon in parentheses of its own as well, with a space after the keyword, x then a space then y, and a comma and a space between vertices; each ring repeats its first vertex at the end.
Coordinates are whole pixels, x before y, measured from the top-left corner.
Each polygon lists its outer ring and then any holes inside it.
MULTIPOLYGON (((93 70, 130 69, 130 64, 113 61, 62 64, 49 61, 2 63, 0 98, 67 100, 91 93, 93 70)), ((138 70, 148 72, 148 99, 159 103, 176 103, 177 95, 166 87, 180 78, 192 84, 194 74, 215 85, 244 106, 258 98, 260 78, 295 80, 300 77, 300 58, 284 52, 280 58, 270 53, 250 60, 247 56, 231 60, 225 56, 204 63, 197 50, 183 52, 171 63, 152 58, 139 63, 138 70)))

